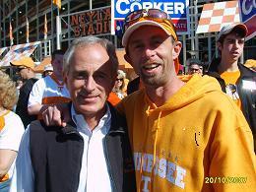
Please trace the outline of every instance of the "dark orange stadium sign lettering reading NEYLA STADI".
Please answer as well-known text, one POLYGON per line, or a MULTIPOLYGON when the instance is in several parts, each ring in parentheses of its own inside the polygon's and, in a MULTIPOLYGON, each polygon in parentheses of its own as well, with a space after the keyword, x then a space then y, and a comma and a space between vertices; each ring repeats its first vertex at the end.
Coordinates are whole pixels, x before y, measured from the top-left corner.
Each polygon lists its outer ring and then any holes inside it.
POLYGON ((110 33, 111 9, 96 9, 70 16, 70 27, 75 37, 110 33))

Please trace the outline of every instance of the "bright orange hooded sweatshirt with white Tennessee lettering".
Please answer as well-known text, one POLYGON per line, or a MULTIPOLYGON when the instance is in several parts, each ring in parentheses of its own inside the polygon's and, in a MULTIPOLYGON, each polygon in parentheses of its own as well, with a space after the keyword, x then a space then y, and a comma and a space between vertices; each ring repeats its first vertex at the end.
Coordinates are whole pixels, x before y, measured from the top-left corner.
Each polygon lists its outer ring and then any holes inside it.
POLYGON ((157 107, 145 91, 125 97, 138 191, 254 191, 251 130, 208 76, 192 76, 157 107))

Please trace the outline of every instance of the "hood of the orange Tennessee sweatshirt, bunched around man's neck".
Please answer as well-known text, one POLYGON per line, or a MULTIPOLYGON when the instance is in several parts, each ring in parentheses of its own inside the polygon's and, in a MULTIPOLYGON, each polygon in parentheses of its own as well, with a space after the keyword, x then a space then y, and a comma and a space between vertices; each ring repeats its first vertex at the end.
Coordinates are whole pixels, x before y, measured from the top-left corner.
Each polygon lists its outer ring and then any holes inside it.
POLYGON ((157 107, 148 96, 146 101, 155 108, 155 111, 167 111, 182 108, 183 106, 194 102, 211 92, 222 92, 221 86, 215 78, 210 76, 193 75, 185 79, 186 84, 173 96, 171 96, 163 105, 157 107))

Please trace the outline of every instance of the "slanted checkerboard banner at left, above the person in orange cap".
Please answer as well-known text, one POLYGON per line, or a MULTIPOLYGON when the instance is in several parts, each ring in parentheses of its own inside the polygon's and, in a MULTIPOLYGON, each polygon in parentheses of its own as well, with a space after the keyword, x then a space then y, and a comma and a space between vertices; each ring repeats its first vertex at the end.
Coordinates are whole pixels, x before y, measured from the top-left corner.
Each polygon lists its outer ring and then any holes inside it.
POLYGON ((18 60, 24 56, 31 56, 34 49, 40 44, 40 41, 35 41, 25 44, 17 44, 11 47, 11 49, 6 53, 3 60, 0 61, 0 66, 9 66, 10 62, 18 60))

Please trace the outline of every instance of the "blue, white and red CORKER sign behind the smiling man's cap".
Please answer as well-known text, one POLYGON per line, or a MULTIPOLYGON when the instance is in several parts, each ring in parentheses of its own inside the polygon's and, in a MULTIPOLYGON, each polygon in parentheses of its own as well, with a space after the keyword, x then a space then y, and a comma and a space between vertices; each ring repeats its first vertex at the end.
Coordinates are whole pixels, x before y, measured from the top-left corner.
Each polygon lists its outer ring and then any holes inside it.
POLYGON ((111 34, 122 35, 123 21, 139 9, 160 9, 166 12, 178 34, 189 34, 188 0, 111 0, 111 34))

